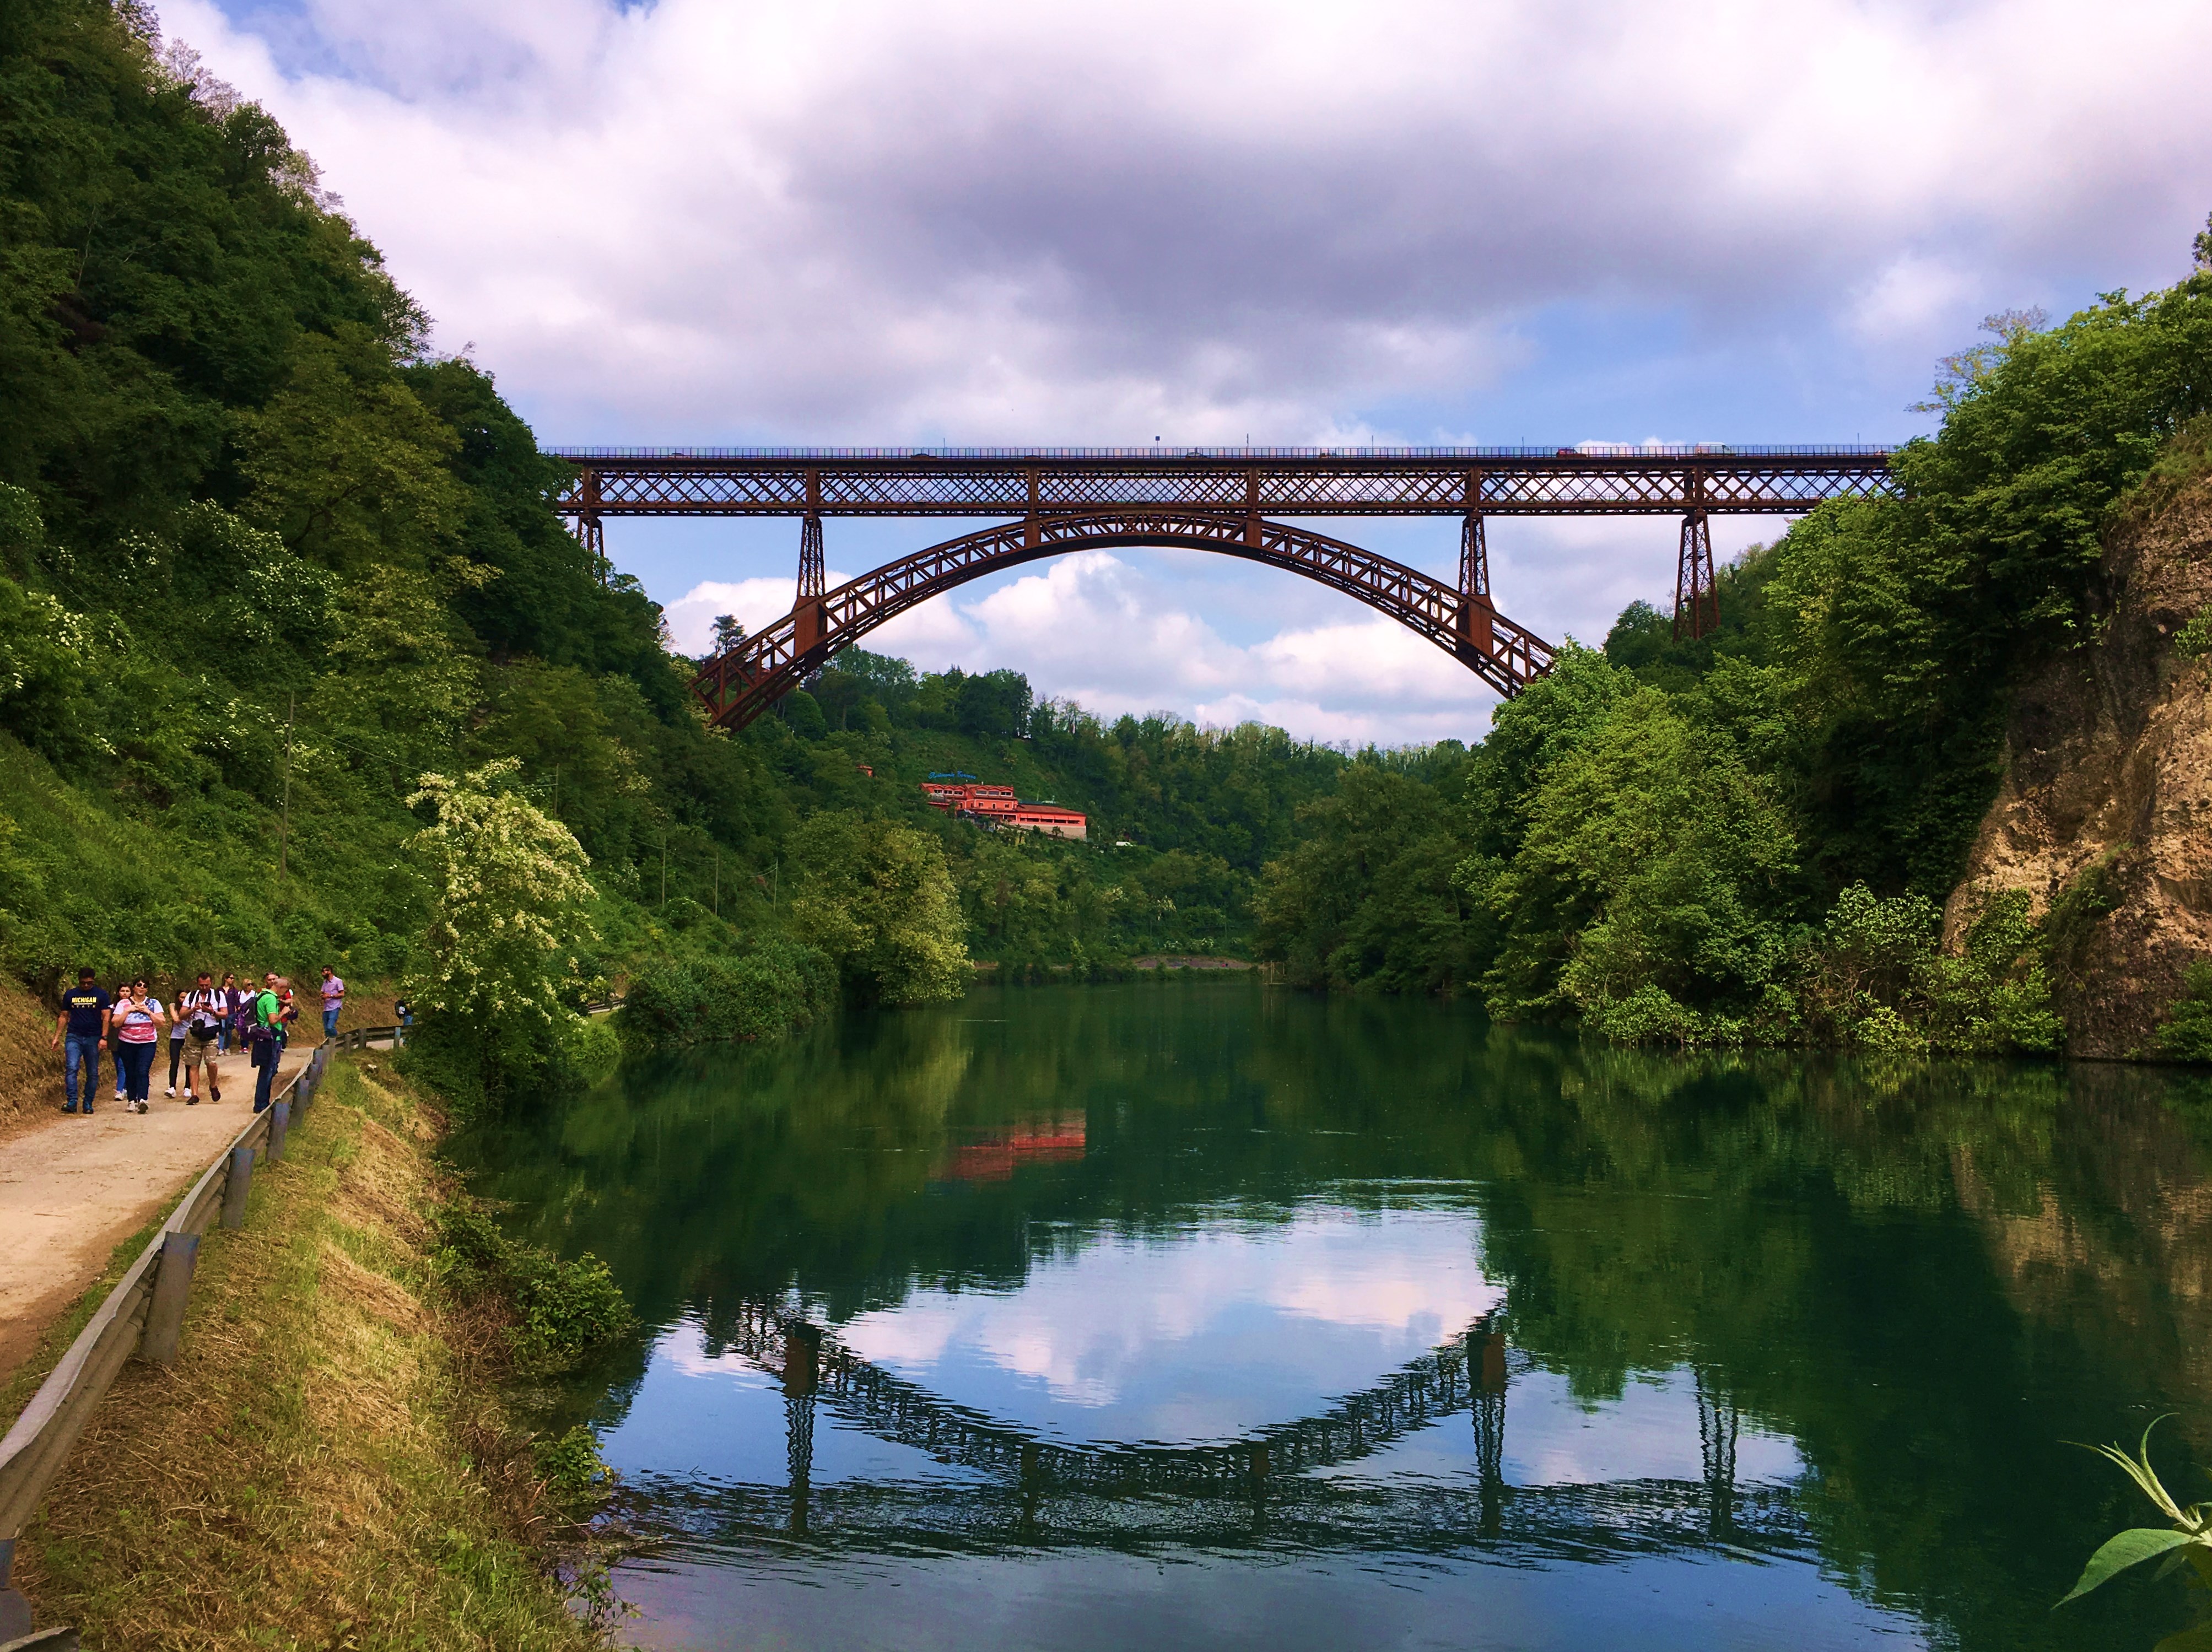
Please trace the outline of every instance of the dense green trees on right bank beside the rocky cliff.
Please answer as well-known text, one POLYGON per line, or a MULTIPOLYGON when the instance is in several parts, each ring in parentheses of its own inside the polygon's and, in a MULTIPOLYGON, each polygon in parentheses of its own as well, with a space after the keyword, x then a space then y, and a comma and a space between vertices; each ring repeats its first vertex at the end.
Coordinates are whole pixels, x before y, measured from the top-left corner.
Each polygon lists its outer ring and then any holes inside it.
MULTIPOLYGON (((1270 951, 1316 982, 1469 980, 1495 1015, 1624 1039, 2055 1048, 2053 949, 2095 918, 2095 874, 2051 900, 1960 891, 1949 949, 1942 905, 2015 686, 2110 624, 2106 535, 2154 467, 2166 495, 2205 469, 2197 250, 2172 290, 1993 318, 1944 363, 1905 495, 1825 506, 1725 568, 1719 635, 1674 639, 1635 604, 1464 765, 1358 765, 1267 871, 1270 951)), ((2152 628, 2150 652, 2203 628, 2152 628)))

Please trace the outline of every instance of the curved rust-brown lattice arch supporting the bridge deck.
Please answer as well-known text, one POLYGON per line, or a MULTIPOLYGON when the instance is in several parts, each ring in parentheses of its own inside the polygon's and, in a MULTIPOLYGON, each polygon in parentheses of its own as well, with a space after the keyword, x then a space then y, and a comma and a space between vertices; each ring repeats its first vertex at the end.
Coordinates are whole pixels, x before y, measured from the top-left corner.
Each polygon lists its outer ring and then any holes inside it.
POLYGON ((964 533, 821 595, 801 586, 792 613, 706 661, 692 692, 717 725, 743 728, 832 655, 929 597, 1024 562, 1117 546, 1214 551, 1343 590, 1427 637, 1509 699, 1551 670, 1553 646, 1498 613, 1480 584, 1458 590, 1363 546, 1256 513, 1117 506, 1037 513, 964 533))

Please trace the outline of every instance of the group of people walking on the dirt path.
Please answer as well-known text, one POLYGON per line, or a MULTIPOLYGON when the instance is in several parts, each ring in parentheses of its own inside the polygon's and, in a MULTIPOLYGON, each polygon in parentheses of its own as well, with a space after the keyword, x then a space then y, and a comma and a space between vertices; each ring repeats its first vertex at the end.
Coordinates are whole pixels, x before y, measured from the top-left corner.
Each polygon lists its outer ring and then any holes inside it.
MULTIPOLYGON (((248 975, 248 982, 252 977, 248 975)), ((338 1031, 338 1013, 345 1008, 345 982, 336 971, 323 971, 323 1037, 338 1031)), ((221 1101, 219 1057, 232 1044, 248 1050, 254 1079, 254 1112, 270 1104, 276 1084, 276 1064, 290 1042, 290 1026, 299 1020, 299 1004, 292 997, 292 982, 270 971, 261 986, 239 986, 237 975, 223 975, 221 984, 208 971, 199 973, 192 986, 175 993, 170 1004, 159 997, 139 975, 117 982, 108 993, 100 986, 97 973, 77 971, 77 984, 62 993, 62 1013, 53 1024, 53 1048, 62 1050, 62 1112, 91 1112, 100 1092, 100 1050, 113 1050, 115 1101, 126 1112, 146 1112, 153 1090, 155 1053, 168 1039, 168 1090, 177 1095, 177 1070, 184 1068, 184 1104, 199 1106, 201 1090, 208 1101, 221 1101), (80 1108, 82 1079, 82 1108, 80 1108)))

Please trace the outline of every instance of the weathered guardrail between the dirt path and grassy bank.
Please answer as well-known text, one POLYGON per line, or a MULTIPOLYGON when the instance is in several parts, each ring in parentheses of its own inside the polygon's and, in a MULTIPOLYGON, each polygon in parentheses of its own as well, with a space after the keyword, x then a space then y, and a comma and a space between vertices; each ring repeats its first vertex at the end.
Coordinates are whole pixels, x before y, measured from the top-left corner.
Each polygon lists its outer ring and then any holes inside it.
MULTIPOLYGON (((367 1031, 389 1035, 394 1028, 367 1031)), ((175 1362, 184 1309, 192 1294, 192 1269, 199 1265, 199 1236, 208 1232, 217 1214, 221 1214, 223 1227, 246 1223, 246 1190, 252 1183, 254 1163, 283 1159, 285 1132, 305 1117, 307 1104, 323 1088, 330 1053, 334 1048, 365 1048, 349 1046, 349 1037, 361 1035, 341 1033, 336 1039, 319 1044, 307 1057, 307 1066, 290 1077, 270 1108, 257 1112, 230 1139, 223 1154, 201 1172, 170 1219, 161 1223, 161 1232, 139 1252, 86 1327, 77 1331, 77 1340, 69 1345, 69 1353, 31 1395, 22 1415, 15 1418, 15 1426, 7 1431, 7 1437, 0 1437, 0 1652, 77 1645, 77 1634, 69 1628, 31 1632, 31 1603, 22 1590, 9 1583, 15 1539, 31 1524, 40 1499, 60 1477, 77 1435, 93 1420, 93 1411, 124 1365, 133 1356, 155 1365, 175 1362)))

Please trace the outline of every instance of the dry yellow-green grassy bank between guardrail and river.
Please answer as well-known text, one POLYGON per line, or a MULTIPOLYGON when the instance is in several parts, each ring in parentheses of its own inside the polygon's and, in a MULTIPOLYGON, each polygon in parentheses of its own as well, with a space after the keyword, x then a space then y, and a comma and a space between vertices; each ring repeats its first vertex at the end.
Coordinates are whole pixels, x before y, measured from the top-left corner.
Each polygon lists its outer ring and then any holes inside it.
POLYGON ((518 1382, 630 1327, 604 1265, 515 1245, 434 1161, 442 1115, 341 1062, 239 1232, 199 1258, 175 1367, 131 1365, 24 1533, 40 1623, 104 1648, 606 1645, 582 1429, 518 1382))

